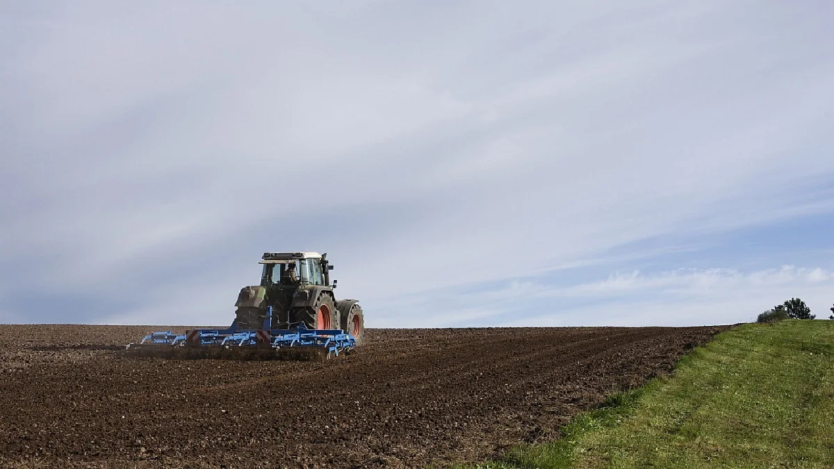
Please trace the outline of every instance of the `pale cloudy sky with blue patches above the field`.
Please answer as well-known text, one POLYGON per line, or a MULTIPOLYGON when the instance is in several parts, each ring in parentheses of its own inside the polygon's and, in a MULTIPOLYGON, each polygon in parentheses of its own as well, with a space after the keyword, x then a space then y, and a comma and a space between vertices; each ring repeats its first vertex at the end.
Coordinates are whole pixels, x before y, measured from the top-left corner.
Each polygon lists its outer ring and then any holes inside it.
POLYGON ((265 251, 369 327, 834 305, 834 3, 0 0, 0 323, 224 325, 265 251))

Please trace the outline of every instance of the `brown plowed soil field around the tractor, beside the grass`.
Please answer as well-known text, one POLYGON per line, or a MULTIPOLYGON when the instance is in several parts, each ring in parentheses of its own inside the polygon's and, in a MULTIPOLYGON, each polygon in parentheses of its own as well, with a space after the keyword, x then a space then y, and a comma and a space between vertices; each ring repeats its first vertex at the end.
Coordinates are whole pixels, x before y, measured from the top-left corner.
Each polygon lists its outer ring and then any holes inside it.
POLYGON ((558 436, 723 329, 369 330, 300 362, 126 357, 153 326, 0 325, 0 465, 477 461, 558 436))

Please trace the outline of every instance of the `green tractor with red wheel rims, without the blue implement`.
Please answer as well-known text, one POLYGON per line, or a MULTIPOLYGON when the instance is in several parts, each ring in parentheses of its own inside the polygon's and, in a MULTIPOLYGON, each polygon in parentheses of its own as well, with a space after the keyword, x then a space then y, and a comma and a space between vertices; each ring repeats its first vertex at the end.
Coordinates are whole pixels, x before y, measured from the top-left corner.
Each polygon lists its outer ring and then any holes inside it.
POLYGON ((357 343, 362 340, 359 300, 336 300, 336 280, 330 281, 333 265, 326 253, 268 252, 259 264, 264 265, 260 285, 244 287, 235 303, 234 321, 240 329, 262 329, 272 306, 269 329, 341 329, 357 343))

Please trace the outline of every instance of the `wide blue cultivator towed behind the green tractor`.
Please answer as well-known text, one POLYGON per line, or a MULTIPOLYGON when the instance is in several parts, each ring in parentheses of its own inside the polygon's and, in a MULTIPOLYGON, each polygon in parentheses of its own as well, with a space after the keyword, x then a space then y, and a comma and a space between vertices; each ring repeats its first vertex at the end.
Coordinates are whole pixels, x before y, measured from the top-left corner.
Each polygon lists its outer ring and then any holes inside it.
POLYGON ((186 330, 185 334, 174 334, 170 330, 153 332, 145 335, 138 344, 128 344, 125 350, 141 356, 259 359, 271 356, 304 358, 304 353, 296 352, 309 351, 329 358, 356 346, 354 336, 341 329, 311 330, 304 323, 292 329, 270 329, 271 324, 270 306, 259 330, 241 330, 235 321, 228 329, 193 329, 186 330))

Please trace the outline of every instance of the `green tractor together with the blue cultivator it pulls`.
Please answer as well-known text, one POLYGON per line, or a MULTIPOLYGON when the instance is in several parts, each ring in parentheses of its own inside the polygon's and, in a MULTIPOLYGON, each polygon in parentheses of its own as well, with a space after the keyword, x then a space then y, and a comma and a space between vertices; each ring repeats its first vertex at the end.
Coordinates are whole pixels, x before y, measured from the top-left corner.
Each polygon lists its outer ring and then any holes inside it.
POLYGON ((240 290, 228 328, 153 332, 125 350, 138 356, 263 359, 304 351, 339 356, 359 345, 362 308, 358 300, 336 300, 326 254, 268 252, 260 264, 260 285, 240 290))

